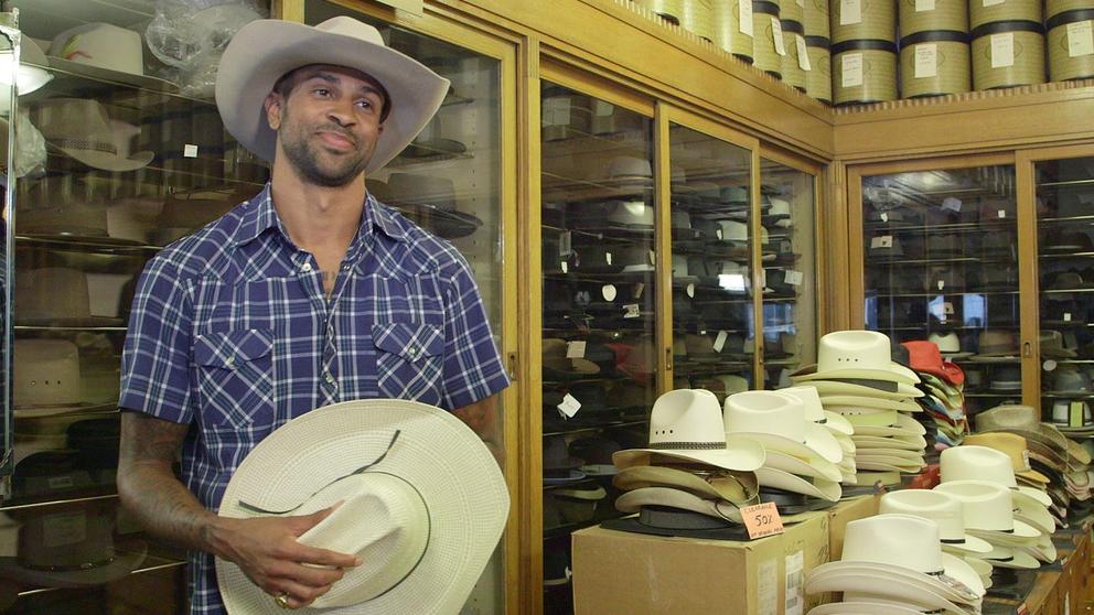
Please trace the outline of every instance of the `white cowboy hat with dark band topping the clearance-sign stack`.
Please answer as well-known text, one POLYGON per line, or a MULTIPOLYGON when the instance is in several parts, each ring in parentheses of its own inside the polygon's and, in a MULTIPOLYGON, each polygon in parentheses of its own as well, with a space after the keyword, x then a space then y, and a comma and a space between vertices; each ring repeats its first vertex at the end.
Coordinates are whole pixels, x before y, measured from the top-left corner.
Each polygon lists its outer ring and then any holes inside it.
POLYGON ((676 463, 701 463, 752 472, 764 463, 763 446, 752 440, 727 447, 726 425, 715 393, 704 389, 676 389, 657 398, 650 414, 650 445, 612 454, 621 471, 655 465, 658 457, 676 463))

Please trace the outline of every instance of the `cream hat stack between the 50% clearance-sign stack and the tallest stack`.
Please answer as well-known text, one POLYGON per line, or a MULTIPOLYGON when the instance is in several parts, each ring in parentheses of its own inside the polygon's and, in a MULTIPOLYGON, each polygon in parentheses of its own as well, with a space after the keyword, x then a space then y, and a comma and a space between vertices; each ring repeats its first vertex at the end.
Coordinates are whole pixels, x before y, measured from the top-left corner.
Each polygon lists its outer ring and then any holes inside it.
POLYGON ((764 499, 782 505, 784 512, 809 509, 809 498, 839 500, 844 450, 827 428, 806 419, 801 397, 783 391, 734 393, 726 398, 725 422, 731 446, 752 442, 766 452, 755 471, 764 499))

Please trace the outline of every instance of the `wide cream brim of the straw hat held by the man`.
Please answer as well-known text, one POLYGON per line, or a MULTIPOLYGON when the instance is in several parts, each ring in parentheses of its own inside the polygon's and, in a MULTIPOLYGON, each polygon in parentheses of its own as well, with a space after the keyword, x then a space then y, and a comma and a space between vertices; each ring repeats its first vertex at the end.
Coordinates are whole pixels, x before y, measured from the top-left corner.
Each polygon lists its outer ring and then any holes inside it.
MULTIPOLYGON (((299 506, 385 451, 383 461, 368 471, 397 476, 420 494, 429 515, 428 542, 421 560, 401 581, 340 613, 454 613, 502 537, 510 497, 493 455, 451 412, 416 401, 368 399, 297 417, 266 436, 239 464, 219 503, 219 515, 251 517, 240 501, 268 510, 299 506), (393 445, 396 430, 399 436, 393 445)), ((353 572, 340 583, 350 582, 353 572)), ((216 575, 229 613, 281 613, 236 564, 217 559, 216 575)))

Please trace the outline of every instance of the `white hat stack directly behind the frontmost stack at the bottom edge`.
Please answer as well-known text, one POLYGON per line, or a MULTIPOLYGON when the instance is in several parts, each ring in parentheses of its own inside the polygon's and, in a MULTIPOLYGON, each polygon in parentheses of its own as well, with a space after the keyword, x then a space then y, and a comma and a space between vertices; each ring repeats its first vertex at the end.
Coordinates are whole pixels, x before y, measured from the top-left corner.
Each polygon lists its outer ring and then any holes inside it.
POLYGON ((965 531, 963 505, 956 497, 930 489, 889 492, 881 496, 878 511, 934 521, 939 525, 943 552, 963 558, 976 571, 984 586, 991 586, 991 564, 980 559, 991 552, 991 544, 965 531))

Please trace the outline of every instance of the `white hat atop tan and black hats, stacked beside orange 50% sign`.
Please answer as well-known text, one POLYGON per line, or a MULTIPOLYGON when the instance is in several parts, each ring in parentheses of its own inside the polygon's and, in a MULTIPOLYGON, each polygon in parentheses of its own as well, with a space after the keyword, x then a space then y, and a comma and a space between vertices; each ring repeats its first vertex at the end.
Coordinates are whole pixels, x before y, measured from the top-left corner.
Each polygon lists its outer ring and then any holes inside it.
MULTIPOLYGON (((677 389, 654 402, 648 445, 612 455, 623 490, 615 508, 639 512, 632 529, 707 530, 740 525, 740 507, 757 503, 758 442, 727 442, 718 399, 677 389)), ((616 529, 628 529, 619 527, 616 529)))

